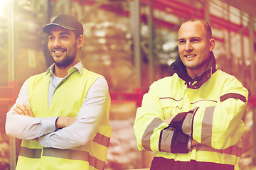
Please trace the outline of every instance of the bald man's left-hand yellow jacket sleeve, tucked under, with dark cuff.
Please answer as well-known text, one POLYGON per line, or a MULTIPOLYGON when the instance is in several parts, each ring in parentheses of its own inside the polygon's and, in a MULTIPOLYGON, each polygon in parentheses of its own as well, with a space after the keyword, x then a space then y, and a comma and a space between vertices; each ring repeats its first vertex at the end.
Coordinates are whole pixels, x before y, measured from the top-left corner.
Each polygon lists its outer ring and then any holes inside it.
POLYGON ((188 153, 188 135, 164 123, 164 112, 155 88, 144 94, 142 107, 137 109, 134 132, 139 150, 154 152, 188 153))

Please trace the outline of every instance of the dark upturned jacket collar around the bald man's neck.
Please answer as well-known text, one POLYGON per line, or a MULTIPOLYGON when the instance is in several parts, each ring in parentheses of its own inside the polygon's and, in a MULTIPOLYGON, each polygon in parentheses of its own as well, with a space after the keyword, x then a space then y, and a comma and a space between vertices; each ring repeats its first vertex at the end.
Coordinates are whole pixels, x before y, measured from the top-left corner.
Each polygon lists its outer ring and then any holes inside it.
POLYGON ((210 79, 211 75, 216 72, 216 61, 213 52, 210 52, 210 60, 205 72, 195 77, 195 79, 188 76, 186 67, 183 62, 181 62, 180 57, 178 57, 178 59, 170 65, 170 69, 172 72, 176 73, 178 77, 185 81, 188 88, 199 89, 206 81, 208 81, 208 79, 210 79))

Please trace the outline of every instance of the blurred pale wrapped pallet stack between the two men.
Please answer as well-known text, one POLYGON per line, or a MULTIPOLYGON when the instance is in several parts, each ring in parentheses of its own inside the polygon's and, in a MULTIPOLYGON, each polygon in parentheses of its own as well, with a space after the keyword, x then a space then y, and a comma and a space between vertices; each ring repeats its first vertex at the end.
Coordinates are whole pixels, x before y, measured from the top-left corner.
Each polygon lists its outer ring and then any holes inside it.
POLYGON ((137 110, 135 102, 114 102, 110 109, 112 136, 105 169, 142 168, 142 152, 137 149, 133 125, 137 110))

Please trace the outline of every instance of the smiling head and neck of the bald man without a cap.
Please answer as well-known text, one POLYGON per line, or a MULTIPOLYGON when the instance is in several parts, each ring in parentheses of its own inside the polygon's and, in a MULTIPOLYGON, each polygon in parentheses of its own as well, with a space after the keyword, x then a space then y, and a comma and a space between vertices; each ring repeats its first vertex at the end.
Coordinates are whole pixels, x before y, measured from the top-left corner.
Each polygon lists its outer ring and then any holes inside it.
POLYGON ((215 40, 208 38, 206 28, 200 21, 188 21, 178 30, 178 52, 192 78, 203 73, 213 50, 215 40))

